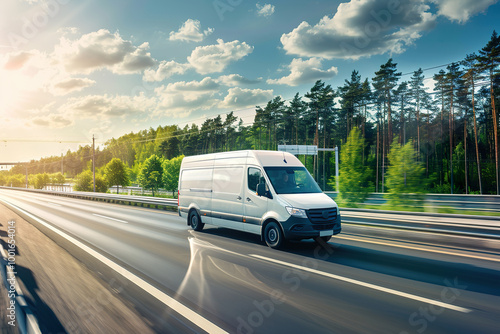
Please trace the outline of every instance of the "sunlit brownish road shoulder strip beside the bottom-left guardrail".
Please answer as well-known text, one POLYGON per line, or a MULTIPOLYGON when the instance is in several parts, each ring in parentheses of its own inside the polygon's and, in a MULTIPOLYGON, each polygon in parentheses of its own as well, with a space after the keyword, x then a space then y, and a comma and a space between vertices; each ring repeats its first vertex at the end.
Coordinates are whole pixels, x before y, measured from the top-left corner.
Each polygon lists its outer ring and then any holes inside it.
MULTIPOLYGON (((15 224, 17 281, 48 333, 152 333, 147 321, 120 297, 119 283, 104 282, 19 215, 0 205, 0 239, 6 248, 15 224)), ((7 291, 0 289, 0 326, 8 333, 7 291)))

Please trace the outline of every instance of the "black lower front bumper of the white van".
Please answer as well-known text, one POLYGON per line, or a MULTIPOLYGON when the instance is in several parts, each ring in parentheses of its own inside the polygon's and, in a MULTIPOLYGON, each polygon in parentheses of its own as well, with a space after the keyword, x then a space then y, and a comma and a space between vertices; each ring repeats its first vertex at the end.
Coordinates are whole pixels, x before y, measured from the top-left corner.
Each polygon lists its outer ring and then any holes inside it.
POLYGON ((290 216, 286 221, 281 222, 281 225, 286 239, 300 240, 322 236, 321 232, 325 233, 326 231, 331 232, 328 235, 339 234, 342 230, 341 221, 340 215, 322 224, 313 224, 308 218, 290 216))

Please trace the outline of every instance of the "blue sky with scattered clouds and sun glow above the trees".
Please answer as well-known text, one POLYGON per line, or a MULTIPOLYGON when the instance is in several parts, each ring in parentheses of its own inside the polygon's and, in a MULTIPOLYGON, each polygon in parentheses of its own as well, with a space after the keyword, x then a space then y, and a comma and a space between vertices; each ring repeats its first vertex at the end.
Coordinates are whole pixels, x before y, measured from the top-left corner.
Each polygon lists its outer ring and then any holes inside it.
POLYGON ((0 162, 230 111, 248 125, 391 57, 432 89, 499 18, 498 0, 2 0, 0 162))

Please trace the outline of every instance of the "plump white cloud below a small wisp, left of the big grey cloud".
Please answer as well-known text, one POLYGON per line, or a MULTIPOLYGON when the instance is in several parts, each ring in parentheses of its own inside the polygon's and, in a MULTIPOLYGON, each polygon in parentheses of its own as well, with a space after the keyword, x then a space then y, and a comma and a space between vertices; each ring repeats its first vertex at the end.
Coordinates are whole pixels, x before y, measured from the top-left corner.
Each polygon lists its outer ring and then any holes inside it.
POLYGON ((189 63, 200 74, 222 72, 226 67, 245 57, 253 51, 253 46, 238 40, 224 43, 222 39, 217 44, 198 46, 187 58, 189 63))

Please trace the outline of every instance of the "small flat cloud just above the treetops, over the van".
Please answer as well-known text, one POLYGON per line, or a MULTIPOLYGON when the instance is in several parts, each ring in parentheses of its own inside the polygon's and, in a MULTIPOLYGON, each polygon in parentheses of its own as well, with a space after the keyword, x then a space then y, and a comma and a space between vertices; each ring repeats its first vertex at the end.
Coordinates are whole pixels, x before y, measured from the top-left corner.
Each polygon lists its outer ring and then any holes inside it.
POLYGON ((255 107, 273 98, 273 90, 229 88, 227 96, 219 104, 224 109, 255 107))

